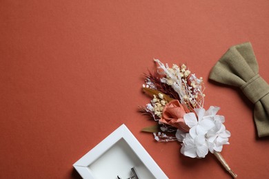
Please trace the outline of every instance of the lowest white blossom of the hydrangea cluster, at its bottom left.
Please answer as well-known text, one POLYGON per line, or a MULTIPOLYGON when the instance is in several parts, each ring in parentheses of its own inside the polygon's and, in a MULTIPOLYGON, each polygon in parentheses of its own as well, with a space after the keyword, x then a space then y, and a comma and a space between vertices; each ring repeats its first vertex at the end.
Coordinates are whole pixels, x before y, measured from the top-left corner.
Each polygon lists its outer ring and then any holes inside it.
POLYGON ((204 158, 208 154, 208 145, 204 135, 197 135, 192 138, 190 134, 186 134, 181 144, 181 154, 190 158, 204 158))

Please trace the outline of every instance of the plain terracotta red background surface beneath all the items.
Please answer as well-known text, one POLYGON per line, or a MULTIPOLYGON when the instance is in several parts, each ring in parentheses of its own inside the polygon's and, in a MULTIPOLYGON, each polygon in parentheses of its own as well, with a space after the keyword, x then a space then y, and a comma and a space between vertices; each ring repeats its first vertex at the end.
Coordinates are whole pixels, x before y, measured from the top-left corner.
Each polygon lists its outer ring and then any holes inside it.
POLYGON ((252 104, 208 81, 231 45, 251 41, 269 82, 269 1, 0 1, 0 178, 80 178, 72 164, 125 123, 169 178, 230 178, 215 157, 156 143, 137 112, 153 58, 186 63, 221 107, 238 178, 268 178, 269 138, 252 104))

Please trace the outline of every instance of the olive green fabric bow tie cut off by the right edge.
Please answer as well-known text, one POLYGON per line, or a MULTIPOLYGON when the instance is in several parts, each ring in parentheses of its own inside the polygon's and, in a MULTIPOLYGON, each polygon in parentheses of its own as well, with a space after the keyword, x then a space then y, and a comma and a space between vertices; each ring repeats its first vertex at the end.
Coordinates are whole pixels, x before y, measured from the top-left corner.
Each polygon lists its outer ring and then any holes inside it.
POLYGON ((269 136, 269 85, 259 76, 259 66, 251 43, 232 46, 212 68, 213 81, 240 87, 255 104, 254 119, 258 136, 269 136))

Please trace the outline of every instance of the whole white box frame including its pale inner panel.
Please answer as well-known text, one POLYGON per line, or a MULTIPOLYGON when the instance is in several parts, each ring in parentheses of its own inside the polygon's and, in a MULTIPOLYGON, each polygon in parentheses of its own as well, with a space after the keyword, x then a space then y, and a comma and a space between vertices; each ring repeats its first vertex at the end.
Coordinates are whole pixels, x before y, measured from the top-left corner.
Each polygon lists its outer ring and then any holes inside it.
POLYGON ((85 179, 130 178, 132 167, 139 179, 168 178, 124 124, 77 160, 73 167, 85 179))

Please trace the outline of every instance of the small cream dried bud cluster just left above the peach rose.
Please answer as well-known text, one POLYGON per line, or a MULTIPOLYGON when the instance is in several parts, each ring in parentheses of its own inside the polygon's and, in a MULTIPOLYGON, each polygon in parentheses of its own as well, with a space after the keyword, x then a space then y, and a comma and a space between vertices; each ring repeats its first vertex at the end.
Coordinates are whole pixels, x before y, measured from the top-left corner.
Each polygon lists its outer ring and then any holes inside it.
POLYGON ((159 118, 161 118, 161 114, 163 114, 163 108, 166 106, 166 103, 167 102, 163 99, 163 94, 159 93, 158 96, 153 95, 151 101, 153 112, 159 118))

